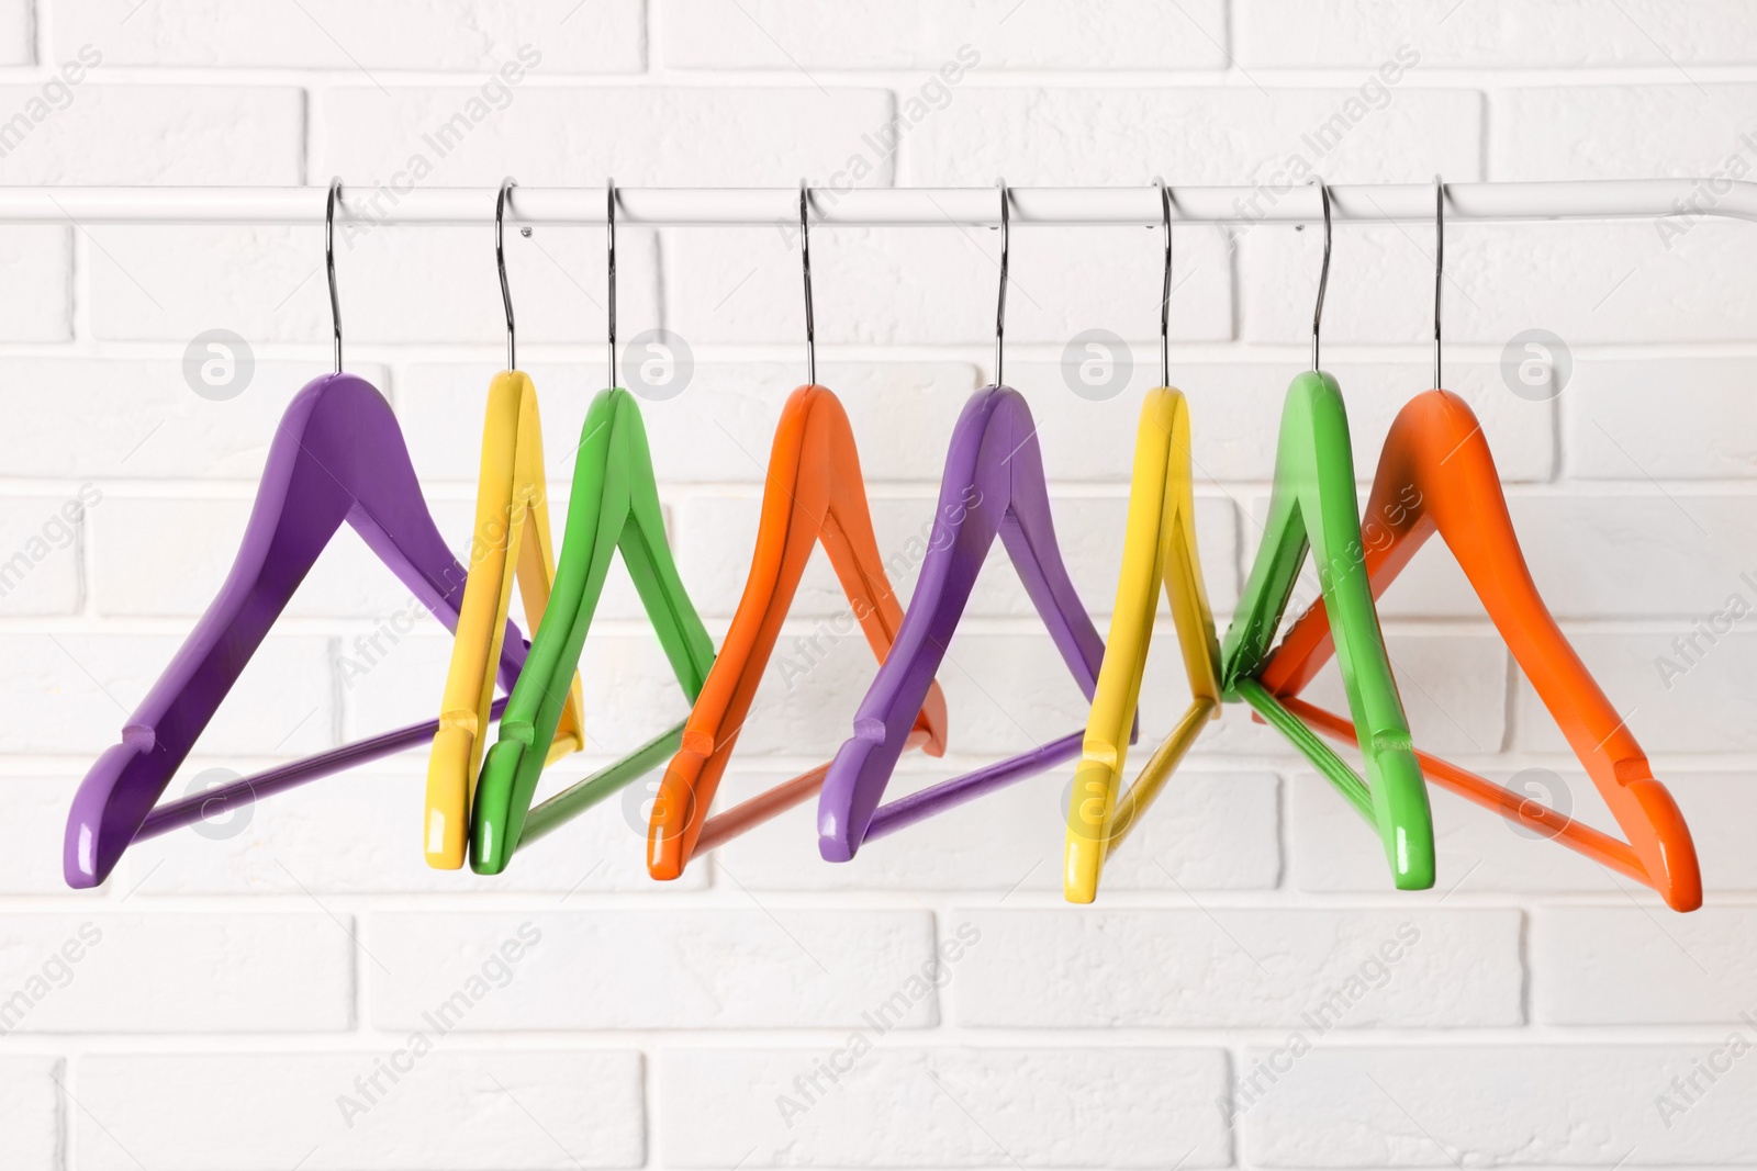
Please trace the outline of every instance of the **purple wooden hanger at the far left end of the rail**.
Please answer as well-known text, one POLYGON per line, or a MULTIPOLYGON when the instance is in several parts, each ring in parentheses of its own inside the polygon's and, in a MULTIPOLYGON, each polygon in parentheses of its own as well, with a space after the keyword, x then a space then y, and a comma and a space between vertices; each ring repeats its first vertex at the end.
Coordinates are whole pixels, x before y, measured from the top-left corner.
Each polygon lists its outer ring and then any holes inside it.
MULTIPOLYGON (((341 369, 339 197, 341 179, 334 179, 323 212, 323 263, 336 370, 311 379, 293 395, 274 430, 257 504, 225 585, 128 716, 121 743, 107 748, 79 783, 63 850, 70 887, 102 883, 149 823, 151 834, 188 825, 225 804, 248 804, 267 792, 418 744, 437 727, 411 725, 271 769, 257 778, 269 781, 260 788, 244 781, 228 785, 223 795, 195 794, 163 809, 153 808, 344 521, 436 618, 446 627, 457 625, 464 567, 427 509, 397 416, 371 383, 341 369)), ((506 627, 497 658, 501 681, 511 686, 525 658, 517 627, 506 627)))

